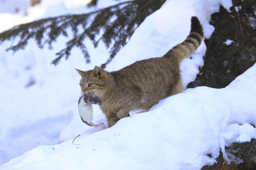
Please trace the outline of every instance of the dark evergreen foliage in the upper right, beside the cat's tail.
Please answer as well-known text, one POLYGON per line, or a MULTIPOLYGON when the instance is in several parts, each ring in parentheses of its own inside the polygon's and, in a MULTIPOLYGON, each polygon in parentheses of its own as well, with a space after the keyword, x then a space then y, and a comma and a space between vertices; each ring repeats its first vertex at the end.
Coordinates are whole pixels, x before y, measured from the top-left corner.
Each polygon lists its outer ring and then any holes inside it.
POLYGON ((231 13, 220 7, 220 12, 211 16, 215 31, 205 40, 207 51, 202 74, 188 88, 226 87, 256 62, 256 1, 232 2, 231 13), (226 46, 223 42, 228 39, 234 42, 226 46))

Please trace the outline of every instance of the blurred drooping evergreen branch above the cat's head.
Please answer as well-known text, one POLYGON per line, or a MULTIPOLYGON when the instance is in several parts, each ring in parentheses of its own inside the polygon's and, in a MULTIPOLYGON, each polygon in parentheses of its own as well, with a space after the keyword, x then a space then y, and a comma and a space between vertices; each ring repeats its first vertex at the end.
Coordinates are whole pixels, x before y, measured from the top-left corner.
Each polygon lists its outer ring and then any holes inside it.
MULTIPOLYGON (((102 64, 102 68, 109 63, 129 41, 134 30, 145 20, 145 18, 158 10, 166 0, 130 0, 114 6, 100 9, 95 12, 81 15, 62 15, 52 18, 41 19, 38 21, 21 24, 0 34, 0 42, 6 40, 14 41, 19 37, 19 42, 7 49, 17 52, 24 49, 28 40, 34 39, 39 48, 45 44, 52 49, 52 43, 58 36, 68 37, 67 29, 71 28, 73 37, 66 42, 66 47, 56 53, 57 58, 52 61, 57 65, 63 57, 68 59, 71 49, 78 47, 83 53, 87 63, 90 62, 90 55, 84 40, 89 39, 97 47, 98 42, 102 41, 107 48, 111 46, 109 59, 102 64), (78 27, 83 28, 79 32, 78 27), (99 39, 96 36, 103 30, 99 39)), ((97 0, 91 1, 90 5, 96 5, 97 0)))

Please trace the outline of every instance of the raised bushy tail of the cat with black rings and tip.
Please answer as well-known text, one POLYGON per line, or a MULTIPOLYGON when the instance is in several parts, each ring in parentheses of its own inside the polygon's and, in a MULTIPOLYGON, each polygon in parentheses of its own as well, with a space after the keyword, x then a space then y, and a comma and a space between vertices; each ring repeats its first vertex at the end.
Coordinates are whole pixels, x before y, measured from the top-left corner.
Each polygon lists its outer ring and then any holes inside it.
POLYGON ((204 38, 203 27, 196 16, 191 17, 191 30, 186 40, 173 47, 169 53, 173 57, 178 57, 181 62, 186 57, 191 56, 201 44, 204 38))

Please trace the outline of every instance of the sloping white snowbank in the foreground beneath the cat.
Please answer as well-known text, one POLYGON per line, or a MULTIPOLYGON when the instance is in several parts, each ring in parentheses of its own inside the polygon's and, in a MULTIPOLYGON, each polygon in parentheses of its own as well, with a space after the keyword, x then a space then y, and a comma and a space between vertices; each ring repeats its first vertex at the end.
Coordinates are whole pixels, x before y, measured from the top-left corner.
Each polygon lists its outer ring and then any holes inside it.
POLYGON ((255 83, 256 65, 226 88, 187 89, 147 113, 98 127, 102 131, 82 134, 74 143, 37 147, 1 168, 199 170, 214 164, 225 144, 256 137, 250 125, 256 124, 255 83))

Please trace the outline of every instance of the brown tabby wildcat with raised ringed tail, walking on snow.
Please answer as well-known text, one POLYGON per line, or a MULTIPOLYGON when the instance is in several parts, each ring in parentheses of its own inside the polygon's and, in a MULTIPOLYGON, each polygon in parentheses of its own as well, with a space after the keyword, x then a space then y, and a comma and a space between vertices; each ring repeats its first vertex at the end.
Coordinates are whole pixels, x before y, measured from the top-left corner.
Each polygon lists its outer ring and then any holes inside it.
POLYGON ((185 41, 164 56, 137 61, 121 70, 77 72, 82 76, 81 93, 100 97, 101 110, 112 127, 132 110, 148 111, 158 101, 185 90, 180 75, 180 62, 190 57, 203 40, 204 32, 198 18, 192 16, 191 30, 185 41))

